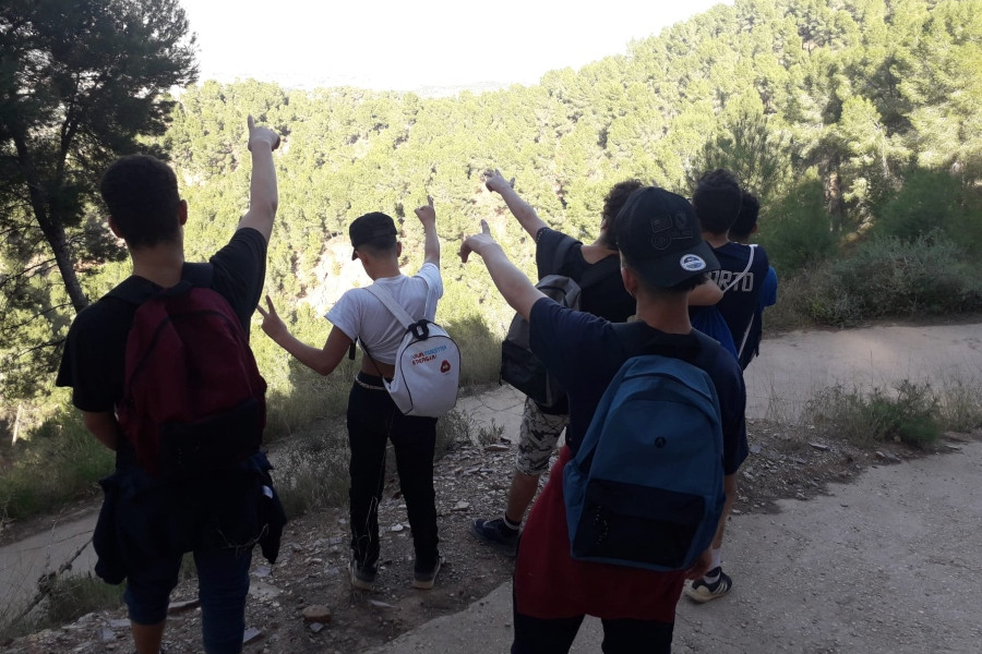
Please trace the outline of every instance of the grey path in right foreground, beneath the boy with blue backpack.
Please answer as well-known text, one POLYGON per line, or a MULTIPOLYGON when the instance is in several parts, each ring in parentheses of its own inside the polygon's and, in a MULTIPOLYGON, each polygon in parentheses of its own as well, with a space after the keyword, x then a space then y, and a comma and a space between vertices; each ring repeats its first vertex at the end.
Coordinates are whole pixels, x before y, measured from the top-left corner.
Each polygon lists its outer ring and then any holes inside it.
MULTIPOLYGON (((982 443, 874 468, 831 495, 734 517, 723 562, 733 591, 682 598, 676 654, 977 654, 982 651, 982 443)), ((511 585, 372 654, 498 654, 511 585)), ((588 618, 573 654, 600 651, 588 618)))

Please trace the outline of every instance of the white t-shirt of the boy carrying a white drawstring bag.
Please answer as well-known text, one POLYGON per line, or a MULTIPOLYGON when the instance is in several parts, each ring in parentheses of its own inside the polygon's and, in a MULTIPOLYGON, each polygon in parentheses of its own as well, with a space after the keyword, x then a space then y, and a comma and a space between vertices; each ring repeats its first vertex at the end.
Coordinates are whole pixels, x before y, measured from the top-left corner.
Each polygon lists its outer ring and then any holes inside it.
MULTIPOLYGON (((435 265, 423 264, 412 277, 382 277, 375 283, 384 287, 414 318, 435 319, 436 300, 443 296, 443 280, 435 265)), ((324 317, 351 340, 360 339, 375 361, 395 363, 406 329, 367 289, 345 291, 324 317)))

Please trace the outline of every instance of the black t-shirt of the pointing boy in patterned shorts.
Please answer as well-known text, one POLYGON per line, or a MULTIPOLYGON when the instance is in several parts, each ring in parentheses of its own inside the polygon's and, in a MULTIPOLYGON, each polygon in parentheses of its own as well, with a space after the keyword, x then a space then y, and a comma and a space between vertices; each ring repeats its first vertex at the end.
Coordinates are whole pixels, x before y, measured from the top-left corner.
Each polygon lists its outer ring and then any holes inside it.
POLYGON ((608 258, 616 261, 601 259, 596 264, 589 264, 583 258, 582 249, 583 243, 573 237, 548 227, 540 230, 536 240, 536 264, 539 279, 547 275, 565 275, 583 288, 579 296, 580 311, 607 318, 612 323, 626 322, 634 315, 637 303, 624 289, 620 258, 611 255, 608 258), (561 247, 566 247, 566 254, 556 267, 554 253, 561 247), (599 278, 589 279, 584 286, 584 275, 600 266, 603 267, 606 274, 599 278))

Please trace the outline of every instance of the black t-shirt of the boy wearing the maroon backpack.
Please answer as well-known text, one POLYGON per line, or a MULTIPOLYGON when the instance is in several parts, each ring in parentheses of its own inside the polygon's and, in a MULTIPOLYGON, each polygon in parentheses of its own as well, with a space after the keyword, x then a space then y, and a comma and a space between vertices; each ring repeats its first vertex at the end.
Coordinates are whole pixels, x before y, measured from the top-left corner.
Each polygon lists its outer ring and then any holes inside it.
MULTIPOLYGON (((266 240, 254 229, 237 230, 209 264, 211 288, 228 300, 248 336, 266 276, 266 240)), ((194 279, 200 266, 185 263, 181 277, 194 279)), ((159 290, 157 284, 131 276, 75 316, 55 384, 72 388, 72 403, 77 409, 113 411, 122 399, 127 335, 137 305, 118 294, 149 298, 159 290)))

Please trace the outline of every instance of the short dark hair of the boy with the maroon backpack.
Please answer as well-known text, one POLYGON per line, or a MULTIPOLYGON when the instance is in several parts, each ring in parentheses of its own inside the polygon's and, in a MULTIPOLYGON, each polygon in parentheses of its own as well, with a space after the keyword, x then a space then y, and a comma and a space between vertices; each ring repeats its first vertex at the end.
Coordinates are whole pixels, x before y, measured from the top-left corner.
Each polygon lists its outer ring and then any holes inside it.
POLYGON ((130 249, 176 242, 181 196, 170 166, 149 155, 117 159, 99 184, 103 201, 130 249))

